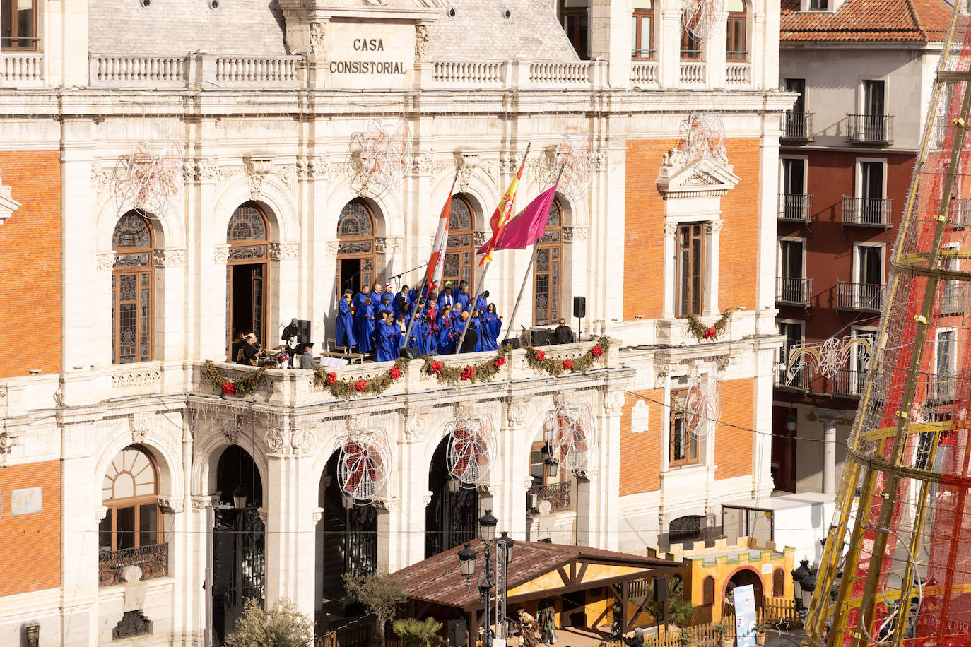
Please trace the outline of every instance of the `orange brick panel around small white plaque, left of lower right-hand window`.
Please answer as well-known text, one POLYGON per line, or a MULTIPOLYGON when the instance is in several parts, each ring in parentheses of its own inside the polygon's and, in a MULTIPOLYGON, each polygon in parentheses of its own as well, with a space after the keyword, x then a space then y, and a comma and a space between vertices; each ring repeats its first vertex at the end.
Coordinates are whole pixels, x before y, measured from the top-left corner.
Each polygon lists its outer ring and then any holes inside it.
POLYGON ((620 410, 620 473, 624 475, 620 479, 621 497, 638 492, 653 492, 661 486, 662 407, 657 403, 664 399, 664 391, 638 391, 637 395, 647 398, 648 431, 631 433, 630 409, 640 398, 630 393, 625 394, 623 408, 620 410))

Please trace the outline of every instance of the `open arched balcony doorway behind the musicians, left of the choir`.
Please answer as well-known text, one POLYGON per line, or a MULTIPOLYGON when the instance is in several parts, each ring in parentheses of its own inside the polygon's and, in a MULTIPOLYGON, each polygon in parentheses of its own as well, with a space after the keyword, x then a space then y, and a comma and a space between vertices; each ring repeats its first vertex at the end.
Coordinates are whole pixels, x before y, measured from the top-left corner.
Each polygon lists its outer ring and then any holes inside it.
MULTIPOLYGON (((241 205, 229 218, 226 243, 226 329, 231 348, 242 334, 255 333, 269 346, 266 335, 269 231, 266 215, 255 203, 241 205)), ((235 360, 235 357, 231 357, 235 360)))

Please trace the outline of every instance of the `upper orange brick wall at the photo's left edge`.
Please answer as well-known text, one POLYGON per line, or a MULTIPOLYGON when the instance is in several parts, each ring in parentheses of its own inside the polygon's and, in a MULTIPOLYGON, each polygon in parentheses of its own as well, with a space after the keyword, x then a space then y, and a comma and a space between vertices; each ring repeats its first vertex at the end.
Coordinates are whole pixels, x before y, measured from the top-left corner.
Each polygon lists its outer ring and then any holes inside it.
POLYGON ((0 151, 0 182, 21 205, 0 224, 0 378, 60 372, 60 153, 0 151))

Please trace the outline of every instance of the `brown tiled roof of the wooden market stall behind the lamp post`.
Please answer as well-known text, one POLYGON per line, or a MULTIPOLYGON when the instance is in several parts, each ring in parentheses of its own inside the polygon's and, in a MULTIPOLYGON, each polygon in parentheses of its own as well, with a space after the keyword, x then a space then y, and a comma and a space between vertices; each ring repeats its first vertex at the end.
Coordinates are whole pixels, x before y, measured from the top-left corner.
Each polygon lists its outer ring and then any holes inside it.
MULTIPOLYGON (((470 542, 476 551, 476 572, 483 572, 485 546, 482 539, 470 542)), ((479 591, 469 591, 458 569, 456 546, 427 560, 407 566, 393 573, 399 578, 412 599, 470 609, 481 602, 479 591)), ((514 589, 531 579, 549 573, 571 562, 592 562, 613 566, 634 566, 645 570, 677 570, 681 565, 641 555, 629 555, 613 550, 568 546, 565 544, 517 541, 513 546, 513 560, 509 564, 507 588, 514 589)))

